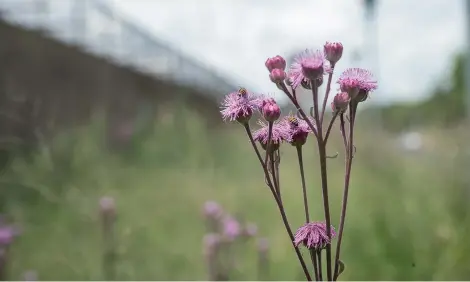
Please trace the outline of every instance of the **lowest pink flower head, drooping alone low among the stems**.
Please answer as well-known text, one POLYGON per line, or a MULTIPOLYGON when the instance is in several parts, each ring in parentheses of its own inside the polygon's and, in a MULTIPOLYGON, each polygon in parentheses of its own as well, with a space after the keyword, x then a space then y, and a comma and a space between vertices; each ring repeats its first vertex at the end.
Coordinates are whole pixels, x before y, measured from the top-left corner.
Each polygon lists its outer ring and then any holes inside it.
MULTIPOLYGON (((331 226, 331 238, 336 236, 333 226, 331 226)), ((300 227, 294 236, 295 246, 303 244, 308 249, 321 250, 331 243, 331 239, 326 234, 326 224, 323 222, 309 222, 300 227)))

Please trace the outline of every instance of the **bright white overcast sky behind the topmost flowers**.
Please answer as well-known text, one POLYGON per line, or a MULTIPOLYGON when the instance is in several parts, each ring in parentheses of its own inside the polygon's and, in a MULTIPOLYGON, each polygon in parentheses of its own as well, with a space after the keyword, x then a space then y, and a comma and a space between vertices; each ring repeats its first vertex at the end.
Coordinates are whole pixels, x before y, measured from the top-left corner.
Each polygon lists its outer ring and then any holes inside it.
MULTIPOLYGON (((264 92, 276 91, 264 67, 267 57, 319 48, 326 40, 344 44, 338 71, 374 69, 354 56, 363 50, 364 33, 371 34, 362 0, 107 1, 236 84, 264 92)), ((465 46, 464 1, 378 0, 377 13, 379 100, 425 97, 465 46)))

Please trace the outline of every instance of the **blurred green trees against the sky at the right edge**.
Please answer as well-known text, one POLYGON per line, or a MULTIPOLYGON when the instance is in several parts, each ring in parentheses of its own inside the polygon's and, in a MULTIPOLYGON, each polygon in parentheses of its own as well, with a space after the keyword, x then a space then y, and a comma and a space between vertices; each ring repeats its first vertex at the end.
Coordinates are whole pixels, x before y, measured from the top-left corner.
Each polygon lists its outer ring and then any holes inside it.
POLYGON ((465 117, 465 56, 455 57, 450 75, 436 81, 429 98, 416 103, 397 103, 382 111, 388 130, 411 126, 455 126, 465 117))

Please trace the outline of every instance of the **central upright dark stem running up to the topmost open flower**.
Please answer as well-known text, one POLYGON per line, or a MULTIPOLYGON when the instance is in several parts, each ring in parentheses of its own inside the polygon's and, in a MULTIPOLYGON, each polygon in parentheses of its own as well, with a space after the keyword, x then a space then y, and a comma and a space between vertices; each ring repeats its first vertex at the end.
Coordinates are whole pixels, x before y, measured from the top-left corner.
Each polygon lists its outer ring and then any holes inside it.
MULTIPOLYGON (((330 218, 330 204, 328 199, 328 172, 326 166, 326 146, 323 142, 323 132, 322 132, 322 124, 319 120, 319 113, 318 113, 318 87, 315 81, 312 81, 312 94, 313 94, 313 110, 314 110, 314 118, 317 122, 318 127, 318 154, 320 158, 320 175, 321 175, 321 182, 322 182, 322 194, 323 194, 323 209, 325 212, 325 223, 326 223, 326 234, 328 238, 331 240, 331 218, 330 218)), ((327 244, 325 247, 326 250, 326 274, 328 281, 331 281, 333 278, 332 275, 332 267, 331 267, 331 244, 327 244)))

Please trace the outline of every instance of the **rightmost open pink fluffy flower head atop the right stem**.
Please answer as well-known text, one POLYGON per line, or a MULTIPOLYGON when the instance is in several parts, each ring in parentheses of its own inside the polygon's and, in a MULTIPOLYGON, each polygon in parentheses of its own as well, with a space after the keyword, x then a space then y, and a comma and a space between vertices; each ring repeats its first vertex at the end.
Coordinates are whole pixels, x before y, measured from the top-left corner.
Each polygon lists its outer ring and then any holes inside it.
POLYGON ((374 80, 372 73, 361 68, 345 70, 340 75, 338 84, 341 91, 349 94, 351 100, 355 100, 359 92, 362 93, 361 99, 365 99, 370 91, 377 89, 377 81, 374 80))

